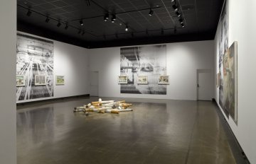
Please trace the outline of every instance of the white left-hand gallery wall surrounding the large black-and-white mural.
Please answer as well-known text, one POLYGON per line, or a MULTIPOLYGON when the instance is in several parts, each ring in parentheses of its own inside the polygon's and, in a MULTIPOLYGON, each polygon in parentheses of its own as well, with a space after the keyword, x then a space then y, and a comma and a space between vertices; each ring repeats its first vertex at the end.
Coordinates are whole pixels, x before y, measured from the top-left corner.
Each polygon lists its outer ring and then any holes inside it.
MULTIPOLYGON (((30 35, 27 33, 23 33, 30 35)), ((38 37, 36 35, 31 35, 38 37)), ((39 37, 43 38, 43 37, 39 37)), ((43 38, 49 40, 47 38, 43 38)), ((53 98, 65 98, 75 95, 89 94, 89 55, 83 47, 53 41, 53 97, 17 100, 16 102, 31 102, 53 98), (65 76, 65 85, 56 86, 55 76, 65 76)))

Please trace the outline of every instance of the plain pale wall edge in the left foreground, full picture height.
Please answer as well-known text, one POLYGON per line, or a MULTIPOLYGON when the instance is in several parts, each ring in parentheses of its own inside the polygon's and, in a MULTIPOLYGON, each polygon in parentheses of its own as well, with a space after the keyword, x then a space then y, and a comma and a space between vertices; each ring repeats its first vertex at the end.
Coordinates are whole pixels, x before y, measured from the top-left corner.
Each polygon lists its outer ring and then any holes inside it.
POLYGON ((0 163, 16 164, 16 1, 0 1, 0 163))

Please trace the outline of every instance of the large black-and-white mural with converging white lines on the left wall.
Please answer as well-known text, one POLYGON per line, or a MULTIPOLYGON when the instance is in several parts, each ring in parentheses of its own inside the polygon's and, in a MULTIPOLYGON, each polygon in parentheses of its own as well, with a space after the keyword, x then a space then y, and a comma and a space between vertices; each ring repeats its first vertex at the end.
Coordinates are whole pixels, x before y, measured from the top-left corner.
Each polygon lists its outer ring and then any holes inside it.
POLYGON ((16 88, 16 100, 53 96, 53 42, 17 33, 16 74, 25 85, 16 88))

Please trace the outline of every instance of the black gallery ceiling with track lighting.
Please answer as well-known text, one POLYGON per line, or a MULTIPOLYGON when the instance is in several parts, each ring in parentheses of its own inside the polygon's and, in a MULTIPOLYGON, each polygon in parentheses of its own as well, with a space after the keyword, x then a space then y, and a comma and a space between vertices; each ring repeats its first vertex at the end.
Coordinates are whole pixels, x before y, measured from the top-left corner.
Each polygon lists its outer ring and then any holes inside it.
POLYGON ((213 40, 223 6, 223 0, 176 0, 185 24, 182 28, 172 7, 175 1, 89 0, 90 6, 87 2, 17 0, 18 30, 87 48, 213 40), (28 8, 31 16, 27 16, 28 8), (110 15, 107 22, 103 20, 106 13, 110 15), (117 17, 114 23, 113 13, 117 17), (81 19, 84 25, 80 25, 81 19))

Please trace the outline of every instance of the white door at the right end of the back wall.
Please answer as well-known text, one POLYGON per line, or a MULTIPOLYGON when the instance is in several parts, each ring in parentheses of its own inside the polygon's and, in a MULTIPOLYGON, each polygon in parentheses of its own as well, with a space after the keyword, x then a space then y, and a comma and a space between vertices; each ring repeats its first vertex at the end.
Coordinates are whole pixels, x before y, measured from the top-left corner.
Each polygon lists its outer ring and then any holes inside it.
POLYGON ((198 100, 212 99, 212 78, 210 70, 198 70, 198 100))

